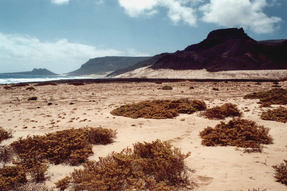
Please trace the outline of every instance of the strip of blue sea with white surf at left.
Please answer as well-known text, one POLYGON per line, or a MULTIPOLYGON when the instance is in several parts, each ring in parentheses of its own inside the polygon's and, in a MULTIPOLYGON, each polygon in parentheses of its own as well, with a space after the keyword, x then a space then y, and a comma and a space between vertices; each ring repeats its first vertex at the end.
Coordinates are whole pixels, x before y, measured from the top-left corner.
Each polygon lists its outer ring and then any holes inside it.
POLYGON ((22 83, 45 82, 51 80, 88 79, 88 78, 90 77, 0 74, 0 84, 15 84, 21 82, 22 83))

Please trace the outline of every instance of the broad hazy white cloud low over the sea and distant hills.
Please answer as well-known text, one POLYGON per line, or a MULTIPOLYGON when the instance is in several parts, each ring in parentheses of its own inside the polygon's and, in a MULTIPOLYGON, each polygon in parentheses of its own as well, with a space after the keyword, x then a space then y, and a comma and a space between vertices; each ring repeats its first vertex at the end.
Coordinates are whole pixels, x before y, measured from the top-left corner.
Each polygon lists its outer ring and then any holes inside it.
POLYGON ((67 73, 79 69, 90 58, 103 56, 149 56, 149 54, 135 50, 97 49, 94 46, 71 43, 67 39, 41 42, 35 37, 0 33, 0 73, 31 71, 34 68, 67 73))

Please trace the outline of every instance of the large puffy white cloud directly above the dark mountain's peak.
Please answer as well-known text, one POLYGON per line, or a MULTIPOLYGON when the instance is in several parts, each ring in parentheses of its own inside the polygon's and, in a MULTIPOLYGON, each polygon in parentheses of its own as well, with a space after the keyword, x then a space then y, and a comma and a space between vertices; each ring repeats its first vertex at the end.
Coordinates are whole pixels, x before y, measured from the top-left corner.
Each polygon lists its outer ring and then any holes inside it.
POLYGON ((199 10, 203 12, 204 22, 243 27, 257 34, 272 33, 282 19, 264 14, 262 9, 266 6, 269 6, 266 0, 210 0, 199 10))

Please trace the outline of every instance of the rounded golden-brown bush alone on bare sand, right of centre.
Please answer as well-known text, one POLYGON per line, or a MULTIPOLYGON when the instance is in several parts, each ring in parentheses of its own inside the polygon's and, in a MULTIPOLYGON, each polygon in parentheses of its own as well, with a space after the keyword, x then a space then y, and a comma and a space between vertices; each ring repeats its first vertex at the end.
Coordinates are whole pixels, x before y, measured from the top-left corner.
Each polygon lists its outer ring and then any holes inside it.
POLYGON ((220 122, 214 128, 207 127, 199 133, 202 145, 206 146, 237 146, 248 147, 251 142, 272 144, 273 139, 268 135, 270 128, 257 125, 256 122, 233 118, 228 123, 220 122))

